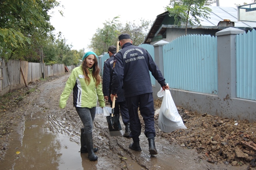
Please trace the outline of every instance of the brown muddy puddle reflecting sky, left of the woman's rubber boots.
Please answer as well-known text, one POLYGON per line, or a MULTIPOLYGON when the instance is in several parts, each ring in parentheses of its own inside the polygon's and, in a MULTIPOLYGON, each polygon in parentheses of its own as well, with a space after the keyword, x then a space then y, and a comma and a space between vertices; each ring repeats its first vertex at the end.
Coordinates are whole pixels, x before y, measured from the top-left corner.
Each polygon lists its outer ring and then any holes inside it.
POLYGON ((80 146, 65 134, 52 133, 44 124, 42 119, 26 121, 22 142, 10 142, 1 166, 6 170, 83 170, 80 146))

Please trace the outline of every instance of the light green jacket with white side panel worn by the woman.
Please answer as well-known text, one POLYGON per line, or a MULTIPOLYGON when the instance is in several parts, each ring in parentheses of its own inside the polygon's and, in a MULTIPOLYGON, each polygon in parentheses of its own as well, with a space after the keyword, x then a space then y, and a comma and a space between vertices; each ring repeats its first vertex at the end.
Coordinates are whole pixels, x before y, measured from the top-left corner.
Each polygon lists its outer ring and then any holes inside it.
POLYGON ((59 106, 61 109, 66 107, 68 97, 72 90, 74 107, 96 107, 97 101, 99 101, 100 107, 105 107, 102 84, 100 83, 98 87, 96 87, 96 81, 94 81, 94 78, 92 77, 92 69, 89 69, 89 71, 90 84, 87 85, 84 80, 82 66, 80 65, 72 70, 71 75, 66 82, 65 89, 60 95, 59 106))

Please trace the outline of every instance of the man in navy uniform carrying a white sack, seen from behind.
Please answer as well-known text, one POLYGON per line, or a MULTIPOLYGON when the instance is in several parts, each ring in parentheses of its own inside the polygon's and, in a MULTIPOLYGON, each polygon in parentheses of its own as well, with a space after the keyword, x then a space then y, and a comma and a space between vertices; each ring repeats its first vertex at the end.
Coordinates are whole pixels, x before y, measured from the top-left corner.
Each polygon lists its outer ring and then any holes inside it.
POLYGON ((130 116, 130 137, 133 140, 129 148, 141 151, 139 139, 141 124, 138 116, 138 108, 140 108, 140 115, 142 115, 145 123, 144 134, 148 138, 149 153, 157 154, 154 142, 156 136, 154 99, 149 71, 164 90, 169 89, 169 86, 146 49, 132 45, 129 34, 121 34, 118 39, 122 49, 115 55, 111 100, 114 96, 118 98, 118 89, 123 84, 124 97, 130 116))

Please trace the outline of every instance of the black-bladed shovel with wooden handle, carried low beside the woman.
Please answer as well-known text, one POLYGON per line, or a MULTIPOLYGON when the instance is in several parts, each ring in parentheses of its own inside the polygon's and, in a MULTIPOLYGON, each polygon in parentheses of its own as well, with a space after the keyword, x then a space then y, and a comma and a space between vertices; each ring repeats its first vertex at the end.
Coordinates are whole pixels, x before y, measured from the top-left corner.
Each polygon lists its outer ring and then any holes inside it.
POLYGON ((114 96, 113 102, 112 102, 112 111, 110 115, 106 117, 108 122, 108 128, 109 128, 110 136, 123 136, 124 132, 120 125, 119 113, 114 115, 115 103, 116 103, 116 97, 114 96))

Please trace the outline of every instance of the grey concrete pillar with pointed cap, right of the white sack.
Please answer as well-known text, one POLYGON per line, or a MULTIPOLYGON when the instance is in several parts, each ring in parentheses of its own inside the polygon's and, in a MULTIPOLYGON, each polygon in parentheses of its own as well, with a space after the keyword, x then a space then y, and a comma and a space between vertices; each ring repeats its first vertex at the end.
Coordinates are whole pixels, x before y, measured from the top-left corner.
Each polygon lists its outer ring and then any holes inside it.
POLYGON ((220 99, 236 98, 236 44, 237 34, 244 30, 226 28, 216 32, 218 48, 218 97, 220 99))

